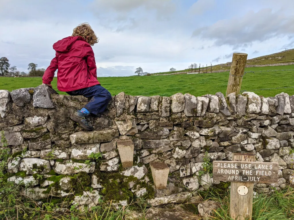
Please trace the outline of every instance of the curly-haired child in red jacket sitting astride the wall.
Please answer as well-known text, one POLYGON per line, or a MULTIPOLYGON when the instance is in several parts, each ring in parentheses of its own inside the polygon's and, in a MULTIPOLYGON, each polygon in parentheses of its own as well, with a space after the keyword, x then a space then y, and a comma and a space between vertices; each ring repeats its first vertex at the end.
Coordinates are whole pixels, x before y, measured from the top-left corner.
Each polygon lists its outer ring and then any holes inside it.
POLYGON ((69 95, 83 95, 91 100, 70 118, 87 131, 93 127, 87 117, 98 117, 105 111, 111 94, 97 80, 97 67, 91 46, 98 43, 98 38, 88 23, 82 23, 70 37, 53 44, 56 51, 49 67, 43 75, 43 84, 52 88, 51 81, 57 72, 57 88, 69 95))

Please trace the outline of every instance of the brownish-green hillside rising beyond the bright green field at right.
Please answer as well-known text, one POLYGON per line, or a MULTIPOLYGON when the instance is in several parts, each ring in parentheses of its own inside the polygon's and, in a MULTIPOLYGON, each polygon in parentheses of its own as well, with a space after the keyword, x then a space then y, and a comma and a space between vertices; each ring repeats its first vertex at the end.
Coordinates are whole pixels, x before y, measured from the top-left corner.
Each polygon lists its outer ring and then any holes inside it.
MULTIPOLYGON (((246 62, 246 66, 247 65, 270 65, 275 63, 291 63, 291 62, 294 62, 294 49, 283 50, 278 53, 273 53, 273 54, 249 59, 246 62)), ((230 68, 231 68, 231 62, 227 62, 227 63, 212 66, 212 71, 230 70, 230 68)), ((208 72, 210 72, 210 70, 211 70, 211 67, 208 67, 208 72)), ((175 72, 185 72, 185 71, 187 71, 187 69, 178 70, 175 72)), ((200 71, 202 71, 202 67, 200 68, 200 71)), ((204 67, 204 72, 206 72, 206 67, 204 67)), ((161 72, 161 73, 154 73, 154 74, 169 74, 169 73, 172 73, 172 72, 161 72)))

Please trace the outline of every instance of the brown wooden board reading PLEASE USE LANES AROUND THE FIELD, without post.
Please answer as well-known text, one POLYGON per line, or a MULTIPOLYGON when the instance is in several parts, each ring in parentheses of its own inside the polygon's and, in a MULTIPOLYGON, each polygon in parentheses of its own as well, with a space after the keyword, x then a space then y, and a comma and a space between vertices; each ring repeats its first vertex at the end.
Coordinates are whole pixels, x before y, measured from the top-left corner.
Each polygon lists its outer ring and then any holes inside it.
POLYGON ((213 161, 213 180, 278 183, 278 163, 213 161))

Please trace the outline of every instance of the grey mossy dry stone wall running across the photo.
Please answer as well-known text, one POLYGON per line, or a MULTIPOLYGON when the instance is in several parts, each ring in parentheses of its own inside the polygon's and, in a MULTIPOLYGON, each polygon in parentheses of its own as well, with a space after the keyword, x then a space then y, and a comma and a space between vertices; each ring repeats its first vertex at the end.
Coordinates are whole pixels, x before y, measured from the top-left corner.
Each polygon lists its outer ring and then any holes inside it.
POLYGON ((210 162, 250 152, 257 161, 280 166, 279 183, 257 183, 256 193, 293 184, 294 96, 134 97, 121 92, 100 118, 90 118, 91 132, 69 118, 87 101, 58 95, 46 85, 0 90, 0 130, 12 155, 8 181, 22 185, 35 200, 70 198, 69 205, 83 207, 100 199, 126 205, 144 197, 157 206, 218 187, 210 162), (122 167, 117 148, 124 145, 134 148, 128 168, 122 167), (151 162, 170 168, 166 189, 153 187, 151 162))

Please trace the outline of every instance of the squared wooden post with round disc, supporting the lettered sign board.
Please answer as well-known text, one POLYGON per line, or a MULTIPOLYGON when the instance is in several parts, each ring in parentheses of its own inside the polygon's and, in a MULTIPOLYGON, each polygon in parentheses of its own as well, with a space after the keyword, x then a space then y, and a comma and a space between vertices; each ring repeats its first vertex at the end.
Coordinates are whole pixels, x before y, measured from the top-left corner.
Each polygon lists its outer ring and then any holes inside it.
MULTIPOLYGON (((247 55, 246 55, 247 57, 247 55)), ((255 155, 251 153, 233 153, 232 161, 255 161, 255 155)), ((252 219, 253 182, 231 182, 230 192, 230 217, 235 220, 252 219), (246 195, 238 193, 239 186, 248 188, 246 195)))

